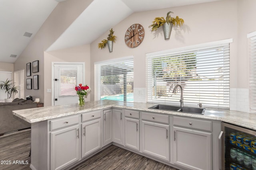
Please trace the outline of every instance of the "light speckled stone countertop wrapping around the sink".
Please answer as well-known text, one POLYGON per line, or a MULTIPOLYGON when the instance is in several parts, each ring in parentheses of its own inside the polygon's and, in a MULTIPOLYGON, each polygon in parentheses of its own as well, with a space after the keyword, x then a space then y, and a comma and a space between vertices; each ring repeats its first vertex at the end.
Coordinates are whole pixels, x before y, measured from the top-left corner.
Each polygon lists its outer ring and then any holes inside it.
POLYGON ((118 107, 123 109, 136 109, 140 111, 151 111, 156 113, 180 115, 187 117, 195 117, 202 119, 224 121, 226 123, 232 123, 246 127, 248 129, 256 130, 256 113, 245 113, 240 111, 229 111, 227 109, 213 109, 206 108, 204 115, 182 113, 176 111, 165 111, 158 109, 148 109, 148 107, 154 106, 152 103, 138 103, 138 102, 119 102, 114 100, 100 100, 94 102, 85 102, 84 107, 79 107, 78 104, 68 104, 61 106, 46 106, 32 109, 14 110, 13 114, 21 119, 35 123, 39 121, 45 121, 58 117, 64 117, 68 115, 74 115, 84 113, 88 111, 106 109, 109 107, 118 107))

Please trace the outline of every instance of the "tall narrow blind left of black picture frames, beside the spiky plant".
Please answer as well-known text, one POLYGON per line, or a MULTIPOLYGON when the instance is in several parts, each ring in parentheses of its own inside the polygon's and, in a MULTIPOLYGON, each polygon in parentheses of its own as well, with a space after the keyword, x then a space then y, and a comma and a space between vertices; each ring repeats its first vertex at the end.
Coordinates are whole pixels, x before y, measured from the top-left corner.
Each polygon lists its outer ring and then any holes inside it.
POLYGON ((14 84, 18 86, 18 93, 14 95, 14 98, 24 99, 24 70, 14 72, 14 84))

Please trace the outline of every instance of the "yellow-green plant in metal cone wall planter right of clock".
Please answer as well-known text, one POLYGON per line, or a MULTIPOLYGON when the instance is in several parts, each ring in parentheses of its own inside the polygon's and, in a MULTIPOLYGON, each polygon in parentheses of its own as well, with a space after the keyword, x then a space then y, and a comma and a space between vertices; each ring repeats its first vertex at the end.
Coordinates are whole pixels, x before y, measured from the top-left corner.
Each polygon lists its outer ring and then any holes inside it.
POLYGON ((163 26, 164 39, 170 39, 172 25, 181 26, 184 23, 182 18, 179 18, 178 16, 173 18, 170 14, 173 14, 173 12, 169 11, 166 19, 164 19, 164 17, 156 17, 154 21, 152 21, 152 24, 149 25, 149 28, 152 27, 151 31, 156 31, 159 27, 163 26))

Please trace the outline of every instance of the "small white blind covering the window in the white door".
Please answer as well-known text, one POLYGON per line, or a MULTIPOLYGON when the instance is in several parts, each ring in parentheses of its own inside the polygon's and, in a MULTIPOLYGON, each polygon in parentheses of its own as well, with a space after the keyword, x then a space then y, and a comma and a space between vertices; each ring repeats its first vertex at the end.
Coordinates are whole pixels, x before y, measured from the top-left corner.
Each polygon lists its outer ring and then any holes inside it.
POLYGON ((59 69, 59 97, 76 96, 78 68, 59 69))

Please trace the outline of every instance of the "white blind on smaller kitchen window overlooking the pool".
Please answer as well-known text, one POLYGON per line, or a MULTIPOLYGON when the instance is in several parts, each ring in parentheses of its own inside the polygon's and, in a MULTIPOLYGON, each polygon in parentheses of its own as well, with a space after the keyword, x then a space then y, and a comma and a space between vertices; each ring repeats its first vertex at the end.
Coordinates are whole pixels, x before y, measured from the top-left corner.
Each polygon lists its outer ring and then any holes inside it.
POLYGON ((94 99, 133 102, 133 58, 94 64, 94 99))

